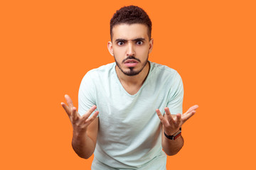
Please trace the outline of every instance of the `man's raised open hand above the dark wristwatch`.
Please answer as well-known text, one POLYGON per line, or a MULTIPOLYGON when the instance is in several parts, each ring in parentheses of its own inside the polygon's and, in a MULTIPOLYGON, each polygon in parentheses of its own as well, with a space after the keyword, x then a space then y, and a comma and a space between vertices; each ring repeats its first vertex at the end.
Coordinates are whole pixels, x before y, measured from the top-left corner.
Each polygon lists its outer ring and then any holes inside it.
POLYGON ((156 114, 159 116, 159 119, 163 124, 166 135, 174 135, 174 133, 178 132, 179 128, 181 128, 181 125, 196 113, 197 108, 197 105, 192 106, 188 111, 186 111, 186 113, 183 113, 182 115, 178 113, 176 116, 171 115, 169 108, 164 108, 164 111, 166 112, 164 116, 161 114, 159 109, 156 109, 156 114))

